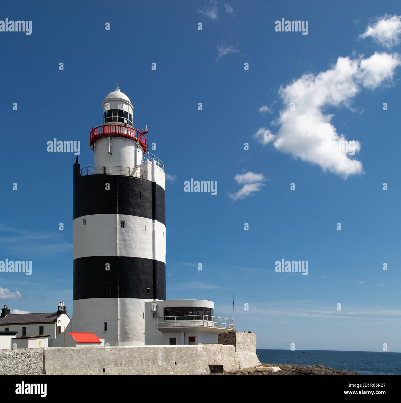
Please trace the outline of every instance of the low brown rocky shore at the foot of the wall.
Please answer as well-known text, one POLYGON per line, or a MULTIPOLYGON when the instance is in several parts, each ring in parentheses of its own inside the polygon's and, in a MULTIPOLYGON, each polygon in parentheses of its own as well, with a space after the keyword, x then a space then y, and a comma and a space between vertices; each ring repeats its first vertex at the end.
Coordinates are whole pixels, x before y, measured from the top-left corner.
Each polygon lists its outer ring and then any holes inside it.
POLYGON ((323 365, 293 365, 293 364, 260 364, 255 367, 244 368, 238 371, 224 372, 224 374, 210 375, 359 375, 357 372, 334 370, 323 365), (266 367, 278 367, 279 371, 271 372, 266 367))

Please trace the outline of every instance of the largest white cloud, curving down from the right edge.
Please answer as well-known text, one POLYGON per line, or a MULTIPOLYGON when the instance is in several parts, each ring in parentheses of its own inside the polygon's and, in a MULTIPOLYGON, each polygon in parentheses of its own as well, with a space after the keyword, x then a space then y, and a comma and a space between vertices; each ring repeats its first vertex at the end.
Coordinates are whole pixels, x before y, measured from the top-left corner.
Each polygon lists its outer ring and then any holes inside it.
POLYGON ((325 108, 351 108, 351 102, 362 88, 389 85, 400 64, 397 54, 376 52, 366 59, 339 57, 330 69, 317 75, 305 74, 280 87, 278 94, 285 107, 275 121, 278 132, 273 134, 261 127, 253 137, 262 145, 273 143, 281 152, 316 164, 324 172, 330 171, 343 178, 362 174, 362 163, 350 158, 360 151, 361 144, 352 140, 354 152, 344 149, 343 144, 350 142, 345 135, 337 133, 331 123, 334 114, 325 112, 325 108), (333 147, 327 150, 325 144, 333 147))

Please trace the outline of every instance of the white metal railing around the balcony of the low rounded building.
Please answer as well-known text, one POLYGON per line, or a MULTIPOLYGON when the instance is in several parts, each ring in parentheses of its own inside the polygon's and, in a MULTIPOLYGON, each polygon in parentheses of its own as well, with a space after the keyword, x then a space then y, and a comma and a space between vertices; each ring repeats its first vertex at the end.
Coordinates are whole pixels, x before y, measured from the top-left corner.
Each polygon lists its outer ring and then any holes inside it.
POLYGON ((158 316, 156 326, 210 326, 224 329, 233 329, 233 320, 208 315, 158 316))

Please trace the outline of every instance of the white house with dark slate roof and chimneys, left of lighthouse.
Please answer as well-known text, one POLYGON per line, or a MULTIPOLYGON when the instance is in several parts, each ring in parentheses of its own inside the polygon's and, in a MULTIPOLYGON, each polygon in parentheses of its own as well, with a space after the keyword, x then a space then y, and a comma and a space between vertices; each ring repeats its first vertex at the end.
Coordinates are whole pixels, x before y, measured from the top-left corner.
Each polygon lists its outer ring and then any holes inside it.
POLYGON ((56 312, 11 314, 10 311, 7 305, 4 305, 1 310, 0 332, 17 332, 15 336, 18 340, 12 340, 13 343, 21 342, 21 344, 17 343, 17 348, 27 348, 20 347, 25 344, 39 347, 39 341, 42 341, 40 347, 52 347, 54 339, 70 322, 63 302, 60 302, 56 312), (29 338, 31 338, 30 341, 29 338))

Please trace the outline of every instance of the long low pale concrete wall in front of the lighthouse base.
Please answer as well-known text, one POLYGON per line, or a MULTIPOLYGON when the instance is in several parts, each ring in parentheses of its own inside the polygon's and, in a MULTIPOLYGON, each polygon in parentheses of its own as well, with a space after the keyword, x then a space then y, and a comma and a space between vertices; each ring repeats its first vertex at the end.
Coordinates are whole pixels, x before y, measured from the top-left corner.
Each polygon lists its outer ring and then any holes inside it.
POLYGON ((201 375, 209 365, 238 369, 233 346, 53 347, 44 349, 47 375, 201 375), (104 368, 104 372, 103 372, 104 368))

